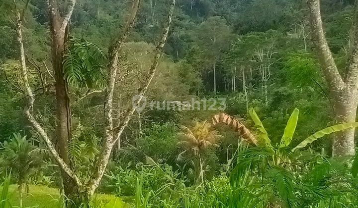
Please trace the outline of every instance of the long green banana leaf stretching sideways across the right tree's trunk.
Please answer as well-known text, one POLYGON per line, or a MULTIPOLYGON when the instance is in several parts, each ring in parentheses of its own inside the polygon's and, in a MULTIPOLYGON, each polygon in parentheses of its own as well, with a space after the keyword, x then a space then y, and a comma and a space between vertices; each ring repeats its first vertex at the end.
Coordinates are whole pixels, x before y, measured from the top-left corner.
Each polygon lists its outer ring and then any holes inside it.
POLYGON ((321 131, 314 133, 313 135, 309 136, 307 139, 303 140, 300 144, 298 144, 295 148, 293 148, 292 151, 295 151, 296 149, 299 148, 304 148, 307 146, 307 144, 312 143, 327 134, 332 134, 334 132, 339 132, 356 127, 358 127, 358 122, 341 123, 338 125, 327 127, 325 129, 322 129, 321 131))

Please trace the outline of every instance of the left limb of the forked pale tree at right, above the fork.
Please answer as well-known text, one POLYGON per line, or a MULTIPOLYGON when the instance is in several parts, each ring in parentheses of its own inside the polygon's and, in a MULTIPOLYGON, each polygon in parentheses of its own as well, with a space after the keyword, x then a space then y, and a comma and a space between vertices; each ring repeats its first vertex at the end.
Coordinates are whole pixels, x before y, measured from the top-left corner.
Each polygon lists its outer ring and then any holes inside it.
POLYGON ((344 88, 345 83, 338 71, 324 34, 320 10, 320 0, 308 0, 307 3, 310 13, 312 39, 318 52, 319 61, 322 65, 326 81, 331 90, 340 91, 342 88, 344 88))

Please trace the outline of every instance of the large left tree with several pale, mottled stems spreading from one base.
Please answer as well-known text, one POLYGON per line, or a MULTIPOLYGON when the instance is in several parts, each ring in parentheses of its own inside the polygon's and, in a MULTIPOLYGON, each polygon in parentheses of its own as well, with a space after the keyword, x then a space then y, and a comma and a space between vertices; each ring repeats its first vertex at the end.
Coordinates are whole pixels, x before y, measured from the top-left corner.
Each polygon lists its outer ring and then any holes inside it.
POLYGON ((115 35, 115 39, 112 40, 109 49, 108 49, 108 79, 106 85, 105 93, 105 129, 104 137, 102 139, 102 146, 99 155, 96 157, 94 169, 91 170, 91 173, 88 179, 85 181, 83 178, 78 177, 76 170, 74 170, 70 164, 73 161, 68 159, 68 145, 72 139, 71 133, 71 108, 70 108, 70 99, 68 95, 69 85, 67 83, 64 67, 63 67, 63 55, 66 47, 66 39, 68 36, 69 21, 72 15, 72 12, 75 7, 76 0, 69 0, 65 3, 58 2, 57 0, 47 0, 48 3, 48 13, 50 21, 50 30, 51 30, 51 51, 52 51, 52 67, 54 71, 55 78, 55 89, 56 89, 56 140, 57 147, 53 144, 52 138, 50 138, 47 132, 44 130, 41 123, 39 123, 33 112, 33 105, 35 102, 35 95, 30 87, 28 77, 27 77, 27 66, 25 61, 25 52, 23 46, 23 37, 22 37, 22 21, 24 18, 25 10, 29 4, 29 0, 26 1, 25 7, 22 10, 16 11, 16 32, 18 47, 20 51, 20 68, 21 68, 21 78, 23 82, 23 87, 25 89, 26 96, 28 98, 28 105, 25 109, 25 115, 33 128, 39 133, 41 138, 46 143, 51 155, 57 161, 61 171, 63 179, 63 188, 66 197, 69 199, 67 201, 67 207, 79 207, 82 203, 88 202, 88 200, 93 196, 96 188, 99 185, 99 182, 104 174, 105 168, 109 161, 111 151, 113 149, 116 140, 120 137, 123 130, 128 125, 133 113, 136 111, 137 106, 142 101, 145 93, 148 91, 148 87, 155 75, 157 66, 163 51, 163 47, 166 43, 170 24, 172 22, 172 16, 174 12, 174 7, 176 0, 171 0, 171 6, 169 8, 168 14, 168 24, 164 28, 163 35, 159 44, 155 50, 155 56, 152 62, 151 67, 147 75, 144 77, 143 86, 141 86, 138 92, 138 99, 136 105, 134 104, 127 110, 127 114, 122 120, 122 122, 117 125, 113 122, 113 93, 114 85, 116 79, 121 75, 118 74, 120 66, 120 59, 118 58, 118 53, 125 43, 127 36, 130 33, 130 29, 133 27, 135 17, 137 15, 138 7, 140 0, 134 0, 131 13, 128 17, 128 21, 120 34, 115 35), (63 9, 65 8, 65 9, 63 9))

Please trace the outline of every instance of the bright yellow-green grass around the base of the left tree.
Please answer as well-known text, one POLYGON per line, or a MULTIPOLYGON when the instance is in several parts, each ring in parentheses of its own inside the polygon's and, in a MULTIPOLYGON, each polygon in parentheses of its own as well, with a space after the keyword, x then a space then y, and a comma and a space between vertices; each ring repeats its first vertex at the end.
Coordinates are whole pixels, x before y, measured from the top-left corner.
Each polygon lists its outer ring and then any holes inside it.
MULTIPOLYGON (((8 199, 12 207, 19 206, 19 195, 16 185, 10 185, 8 199)), ((113 195, 98 194, 94 199, 99 208, 130 208, 131 206, 113 195)), ((29 193, 24 195, 24 208, 62 208, 60 191, 47 186, 29 185, 29 193)))

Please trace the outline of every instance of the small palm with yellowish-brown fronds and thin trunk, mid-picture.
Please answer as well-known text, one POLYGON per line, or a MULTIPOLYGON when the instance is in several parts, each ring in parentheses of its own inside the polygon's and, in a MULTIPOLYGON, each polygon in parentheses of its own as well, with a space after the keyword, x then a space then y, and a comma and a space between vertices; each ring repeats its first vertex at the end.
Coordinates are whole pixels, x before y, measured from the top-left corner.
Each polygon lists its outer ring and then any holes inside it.
POLYGON ((218 139, 223 136, 219 135, 216 130, 213 130, 211 123, 204 121, 195 121, 195 125, 192 129, 189 129, 185 126, 181 126, 183 132, 179 133, 179 136, 182 137, 182 141, 178 144, 183 145, 186 150, 181 152, 178 157, 187 152, 192 152, 194 156, 197 156, 199 159, 199 178, 200 182, 204 182, 203 174, 203 161, 202 154, 205 150, 210 147, 217 146, 218 139))

